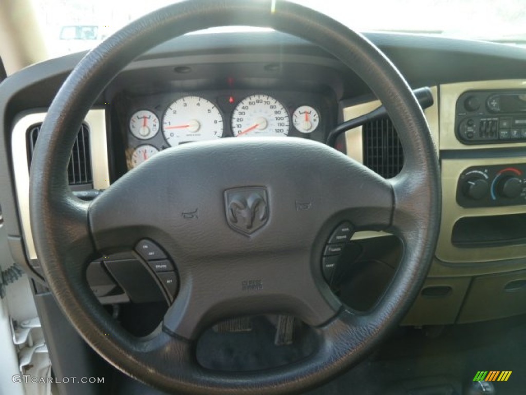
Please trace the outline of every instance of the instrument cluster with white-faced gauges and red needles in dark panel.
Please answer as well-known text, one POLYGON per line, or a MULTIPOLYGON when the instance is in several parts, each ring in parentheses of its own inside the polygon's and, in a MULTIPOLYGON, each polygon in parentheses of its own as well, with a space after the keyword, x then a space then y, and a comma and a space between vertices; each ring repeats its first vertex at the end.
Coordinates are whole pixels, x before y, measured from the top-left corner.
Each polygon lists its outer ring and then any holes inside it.
POLYGON ((305 92, 200 92, 135 97, 127 106, 128 169, 168 147, 228 137, 325 141, 329 100, 305 92))

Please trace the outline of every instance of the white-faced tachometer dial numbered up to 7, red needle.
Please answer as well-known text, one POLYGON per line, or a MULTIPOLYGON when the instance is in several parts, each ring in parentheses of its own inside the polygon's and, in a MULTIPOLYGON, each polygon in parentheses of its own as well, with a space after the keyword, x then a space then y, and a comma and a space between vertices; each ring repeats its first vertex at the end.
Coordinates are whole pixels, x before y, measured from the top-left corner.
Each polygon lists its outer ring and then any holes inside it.
POLYGON ((163 118, 169 145, 213 140, 223 135, 223 118, 217 107, 199 96, 185 96, 172 103, 163 118))

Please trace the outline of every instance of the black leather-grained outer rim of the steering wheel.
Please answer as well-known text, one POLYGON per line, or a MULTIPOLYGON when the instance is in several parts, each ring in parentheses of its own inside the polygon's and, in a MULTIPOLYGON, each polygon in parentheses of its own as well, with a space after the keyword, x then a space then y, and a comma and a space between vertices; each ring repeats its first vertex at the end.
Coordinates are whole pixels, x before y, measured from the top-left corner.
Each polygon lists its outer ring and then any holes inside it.
MULTIPOLYGON (((225 144, 222 152, 234 150, 240 144, 255 155, 259 151, 281 149, 275 142, 232 142, 225 144)), ((188 155, 191 160, 191 155, 204 157, 214 150, 214 145, 207 144, 203 148, 180 147, 177 154, 173 150, 160 155, 149 170, 161 161, 180 160, 173 159, 175 156, 185 159, 188 155)), ((141 167, 141 171, 148 171, 146 164, 141 167)), ((356 188, 349 191, 359 195, 356 188)), ((30 183, 37 255, 49 288, 77 331, 103 358, 132 377, 169 391, 206 394, 299 391, 328 380, 362 357, 401 320, 427 274, 438 238, 440 196, 438 160, 426 119, 395 66, 366 38, 327 16, 296 4, 271 1, 177 3, 148 14, 107 38, 80 61, 50 106, 33 158, 30 183), (102 208, 107 209, 105 206, 115 202, 111 200, 111 191, 126 189, 133 176, 122 177, 92 204, 76 199, 63 176, 76 135, 74 131, 99 93, 120 70, 169 38, 226 25, 272 27, 313 42, 336 56, 355 71, 386 106, 406 154, 402 172, 393 180, 381 181, 363 166, 343 159, 343 155, 320 144, 291 141, 290 147, 282 151, 303 152, 304 156, 297 157, 305 163, 308 162, 305 153, 311 153, 312 157, 319 154, 320 166, 324 166, 325 160, 330 161, 331 165, 356 173, 352 175, 354 181, 359 182, 361 176, 382 193, 387 191, 389 198, 377 208, 378 214, 372 214, 382 219, 375 218, 372 228, 397 234, 404 244, 403 258, 381 303, 371 312, 359 315, 335 306, 338 311, 331 319, 313 319, 321 339, 315 356, 290 366, 242 375, 210 372, 199 367, 191 357, 192 339, 181 336, 184 332, 160 327, 150 339, 136 339, 113 323, 89 291, 84 271, 97 251, 109 247, 104 245, 104 240, 112 239, 108 228, 99 231, 105 225, 101 219, 105 213, 102 208), (105 195, 110 197, 103 200, 105 195)), ((362 197, 363 203, 367 196, 362 197)), ((356 210, 352 212, 358 215, 356 210)), ((360 219, 356 221, 359 223, 360 219)), ((176 324, 174 328, 180 329, 176 324)))

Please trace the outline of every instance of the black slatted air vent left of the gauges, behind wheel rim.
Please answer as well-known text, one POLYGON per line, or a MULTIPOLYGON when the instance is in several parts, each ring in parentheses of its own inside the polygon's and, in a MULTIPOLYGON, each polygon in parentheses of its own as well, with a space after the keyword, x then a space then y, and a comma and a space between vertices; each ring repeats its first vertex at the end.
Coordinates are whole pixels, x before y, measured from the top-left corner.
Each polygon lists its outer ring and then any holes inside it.
MULTIPOLYGON (((29 127, 27 130, 29 167, 31 167, 33 151, 35 150, 36 140, 41 127, 42 124, 39 123, 29 127)), ((93 182, 92 161, 89 151, 89 130, 85 124, 80 126, 75 144, 73 145, 73 150, 69 157, 67 175, 69 185, 82 185, 93 182)))

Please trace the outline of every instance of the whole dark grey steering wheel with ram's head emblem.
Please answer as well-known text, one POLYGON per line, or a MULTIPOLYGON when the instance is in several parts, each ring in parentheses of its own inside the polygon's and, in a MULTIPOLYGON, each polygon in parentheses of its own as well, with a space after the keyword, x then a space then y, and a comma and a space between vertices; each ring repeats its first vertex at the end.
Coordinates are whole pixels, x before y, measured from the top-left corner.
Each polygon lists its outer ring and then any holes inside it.
POLYGON ((50 106, 29 193, 33 237, 49 288, 82 337, 131 377, 167 391, 207 395, 300 391, 348 369, 399 323, 416 297, 436 246, 441 206, 429 128, 395 66, 360 34, 283 1, 176 3, 107 38, 78 63, 50 106), (302 37, 351 68, 395 124, 405 154, 401 173, 385 180, 309 140, 222 139, 165 150, 93 202, 77 199, 65 169, 76 131, 110 80, 156 44, 228 25, 272 27, 302 37), (265 222, 254 233, 228 226, 228 191, 234 188, 261 199, 252 199, 258 223, 265 222), (298 210, 296 202, 308 202, 306 209, 298 210), (181 216, 196 207, 197 220, 181 216), (342 305, 322 278, 324 242, 342 221, 356 231, 388 231, 403 243, 394 279, 366 313, 342 305), (141 239, 162 245, 180 278, 177 298, 147 338, 119 327, 85 276, 96 256, 133 250, 141 239), (315 351, 258 372, 199 366, 194 346, 204 328, 220 319, 268 312, 294 315, 311 325, 315 351))

